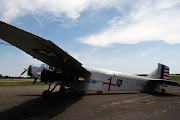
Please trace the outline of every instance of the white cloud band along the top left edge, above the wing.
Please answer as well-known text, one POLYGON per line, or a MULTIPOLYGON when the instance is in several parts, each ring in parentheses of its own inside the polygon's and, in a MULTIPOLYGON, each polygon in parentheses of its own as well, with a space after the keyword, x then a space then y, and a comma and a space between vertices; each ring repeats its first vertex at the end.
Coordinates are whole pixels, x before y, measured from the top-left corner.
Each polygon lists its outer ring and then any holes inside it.
POLYGON ((77 19, 87 9, 116 7, 134 0, 1 0, 0 20, 10 22, 27 14, 47 14, 77 19))

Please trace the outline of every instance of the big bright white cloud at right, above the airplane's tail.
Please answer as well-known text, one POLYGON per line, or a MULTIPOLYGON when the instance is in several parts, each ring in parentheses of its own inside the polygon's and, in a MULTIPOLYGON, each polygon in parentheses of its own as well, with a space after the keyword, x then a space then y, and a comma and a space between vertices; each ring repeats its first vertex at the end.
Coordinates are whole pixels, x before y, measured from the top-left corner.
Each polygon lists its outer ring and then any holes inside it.
POLYGON ((78 39, 95 46, 155 40, 180 43, 179 4, 179 0, 140 0, 125 17, 117 16, 109 21, 106 29, 78 39))

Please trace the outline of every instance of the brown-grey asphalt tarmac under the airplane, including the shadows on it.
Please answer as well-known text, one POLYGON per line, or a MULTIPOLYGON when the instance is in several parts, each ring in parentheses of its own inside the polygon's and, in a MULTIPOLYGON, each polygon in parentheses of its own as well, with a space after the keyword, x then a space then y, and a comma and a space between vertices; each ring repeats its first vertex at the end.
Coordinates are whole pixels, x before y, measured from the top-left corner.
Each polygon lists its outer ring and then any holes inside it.
POLYGON ((180 120, 180 87, 166 93, 80 90, 53 94, 44 100, 48 86, 0 87, 0 120, 180 120))

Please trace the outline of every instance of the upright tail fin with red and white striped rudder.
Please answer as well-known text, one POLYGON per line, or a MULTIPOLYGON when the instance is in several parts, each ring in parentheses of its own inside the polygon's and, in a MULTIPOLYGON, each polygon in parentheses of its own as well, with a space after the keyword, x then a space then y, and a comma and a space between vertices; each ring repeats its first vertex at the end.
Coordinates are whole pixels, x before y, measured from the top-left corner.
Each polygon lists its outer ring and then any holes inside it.
POLYGON ((153 79, 169 80, 169 67, 158 63, 158 68, 147 76, 153 79))

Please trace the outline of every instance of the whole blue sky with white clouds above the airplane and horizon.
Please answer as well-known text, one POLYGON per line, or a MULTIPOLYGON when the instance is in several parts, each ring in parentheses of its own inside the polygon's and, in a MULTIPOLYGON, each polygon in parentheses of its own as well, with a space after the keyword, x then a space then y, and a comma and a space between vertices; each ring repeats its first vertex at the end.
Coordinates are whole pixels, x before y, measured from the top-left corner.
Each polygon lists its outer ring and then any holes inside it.
MULTIPOLYGON (((179 0, 0 0, 0 20, 51 40, 85 67, 180 73, 179 0)), ((6 43, 0 39, 0 43, 6 43)), ((0 74, 42 62, 0 44, 0 74)))

